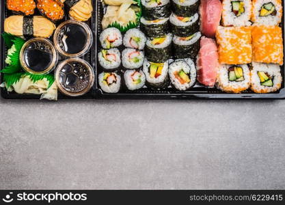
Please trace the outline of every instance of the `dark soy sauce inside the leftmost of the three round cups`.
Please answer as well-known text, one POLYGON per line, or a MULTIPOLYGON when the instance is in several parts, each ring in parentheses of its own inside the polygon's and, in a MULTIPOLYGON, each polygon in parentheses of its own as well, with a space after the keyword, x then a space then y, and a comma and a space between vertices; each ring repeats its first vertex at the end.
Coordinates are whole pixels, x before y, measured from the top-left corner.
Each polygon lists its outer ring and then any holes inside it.
POLYGON ((43 72, 53 61, 51 47, 45 42, 31 42, 23 55, 27 67, 35 72, 43 72))

